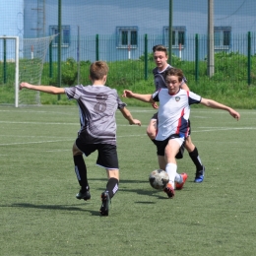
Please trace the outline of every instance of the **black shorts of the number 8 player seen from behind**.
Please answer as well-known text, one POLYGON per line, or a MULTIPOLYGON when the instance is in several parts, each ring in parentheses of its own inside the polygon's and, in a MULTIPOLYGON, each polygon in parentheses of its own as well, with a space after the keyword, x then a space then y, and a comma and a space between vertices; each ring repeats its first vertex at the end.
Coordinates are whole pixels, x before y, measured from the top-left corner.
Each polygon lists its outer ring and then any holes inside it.
POLYGON ((111 144, 85 144, 78 138, 77 147, 89 157, 97 151, 96 164, 106 169, 119 169, 116 146, 111 144))

